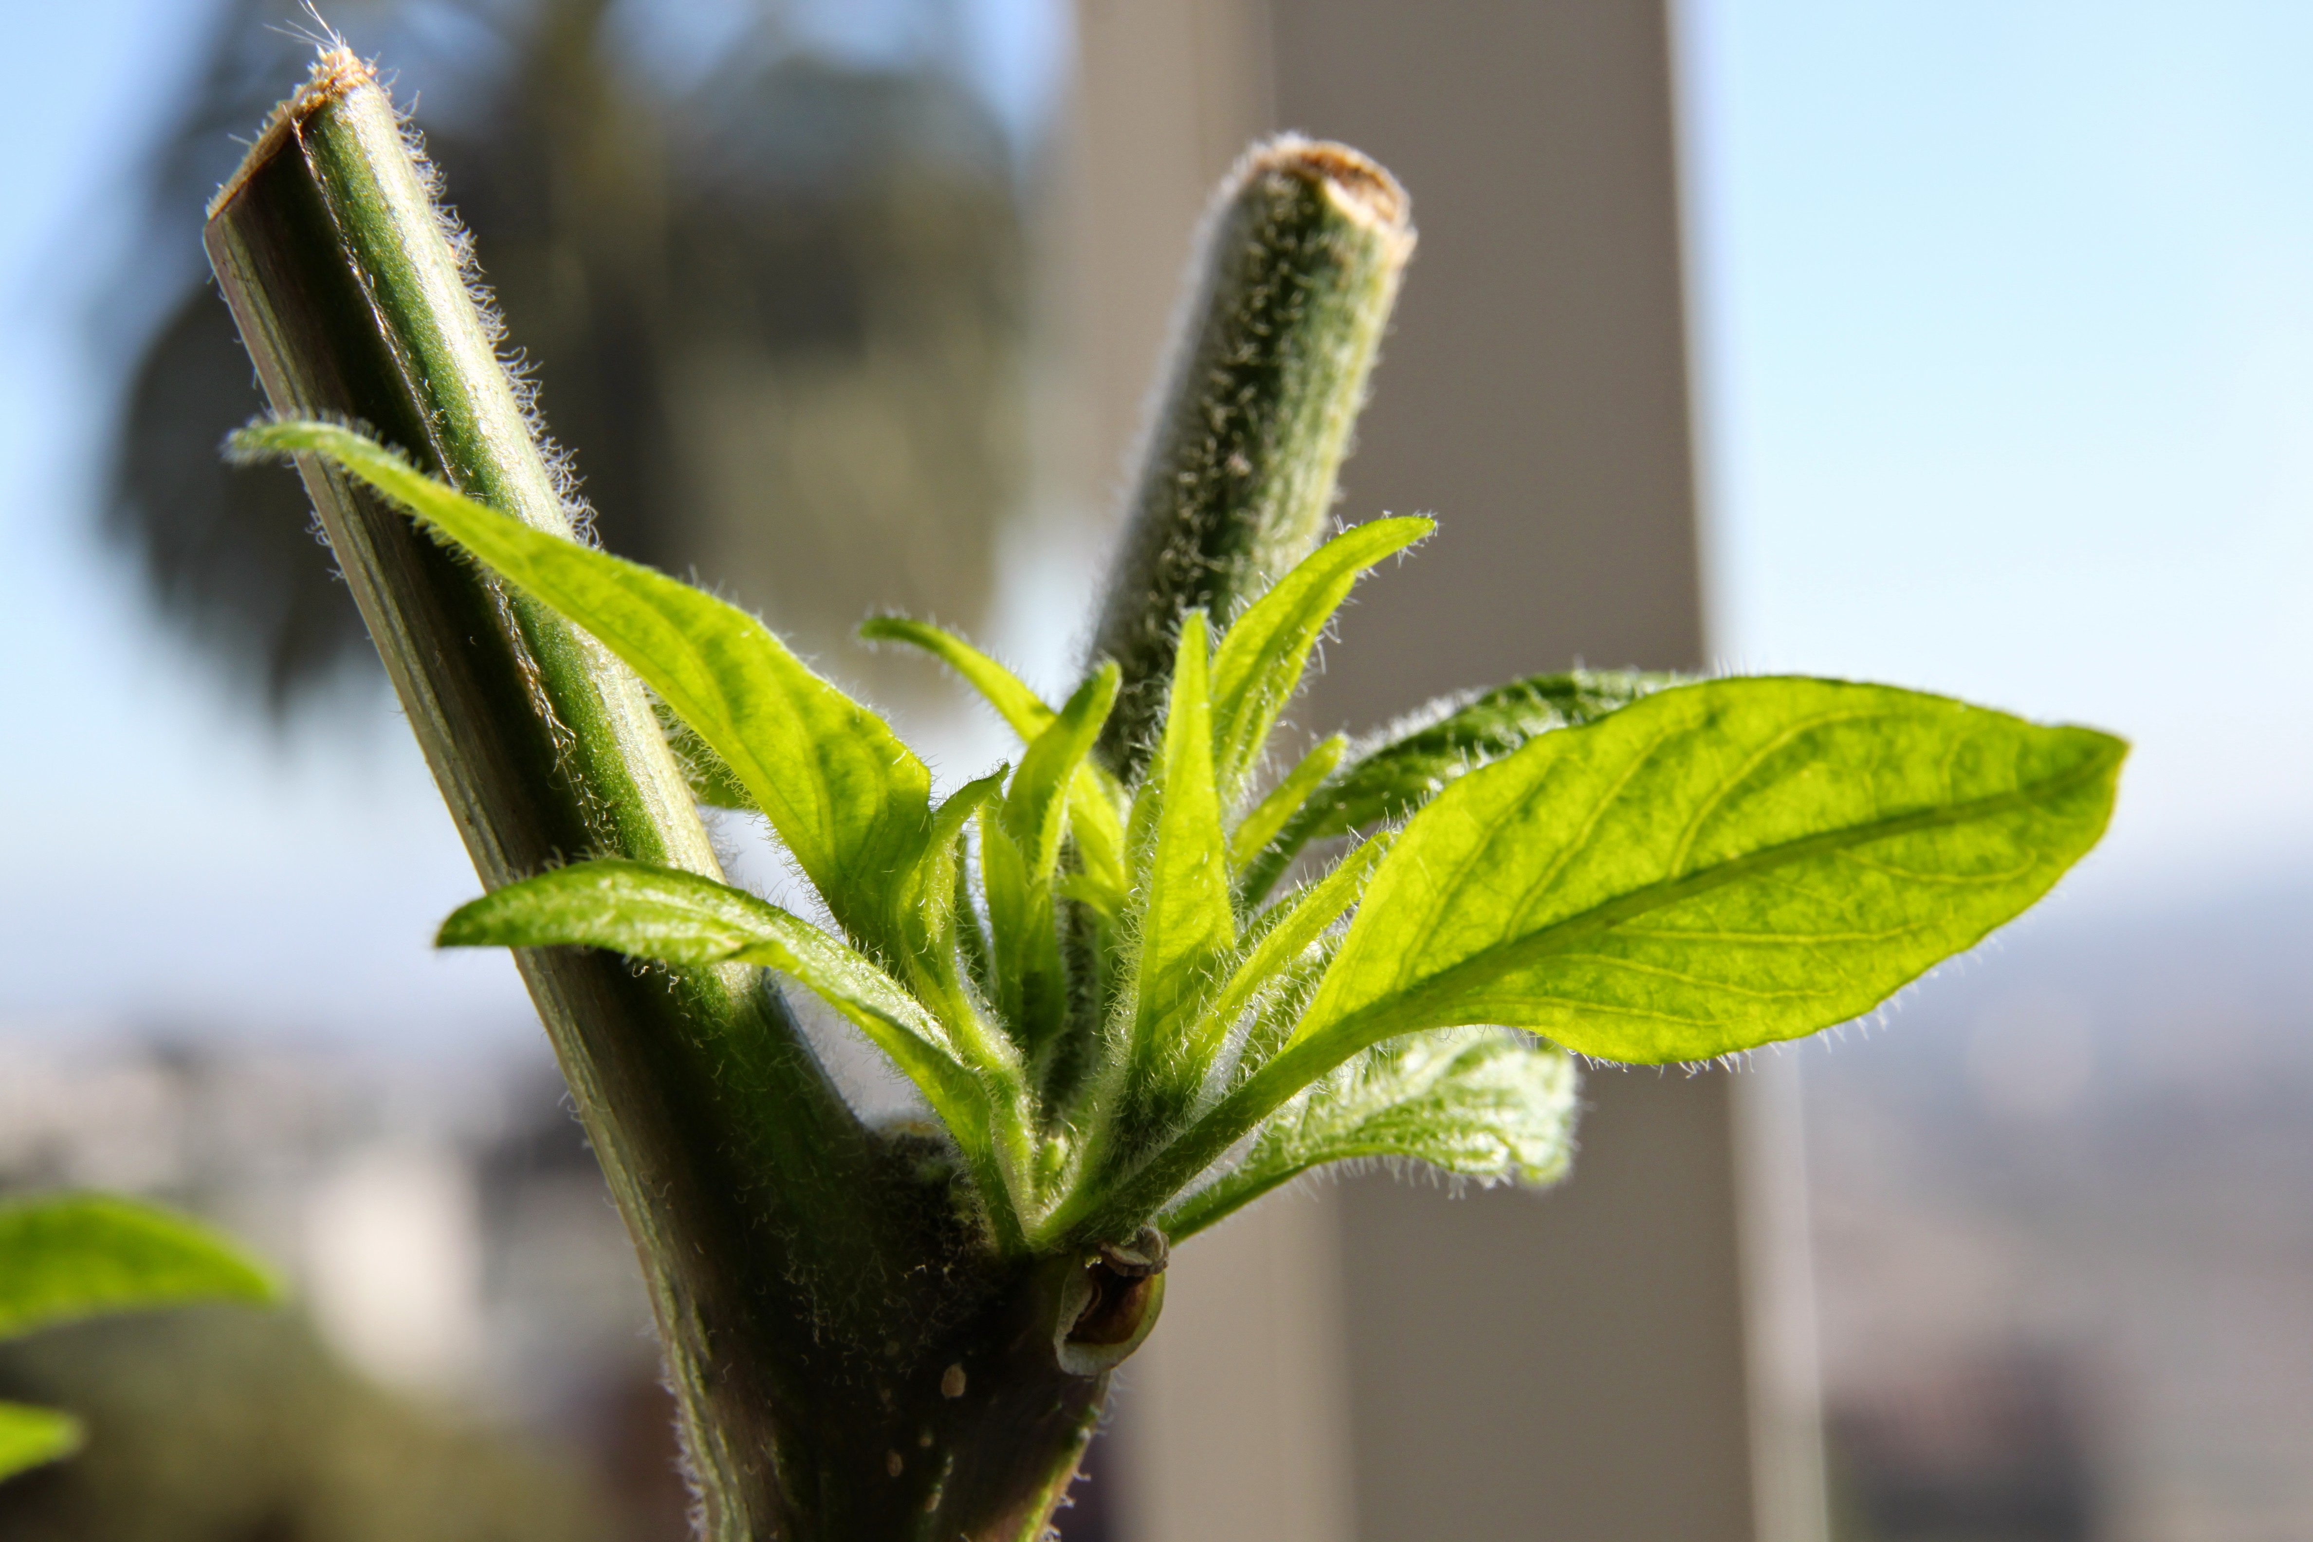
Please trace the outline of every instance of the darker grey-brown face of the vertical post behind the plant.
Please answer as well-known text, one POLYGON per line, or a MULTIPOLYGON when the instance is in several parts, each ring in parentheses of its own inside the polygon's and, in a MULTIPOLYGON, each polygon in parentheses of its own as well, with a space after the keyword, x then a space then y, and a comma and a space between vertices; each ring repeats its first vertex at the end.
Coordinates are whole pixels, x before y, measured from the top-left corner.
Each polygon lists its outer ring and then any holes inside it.
MULTIPOLYGON (((1575 661, 1698 668, 1663 9, 1272 16, 1281 120, 1392 166, 1422 224, 1344 513, 1441 518, 1360 592, 1300 721, 1575 661)), ((1360 1537, 1760 1535, 1735 1096, 1591 1073, 1575 1177, 1543 1198, 1346 1186, 1360 1537)))

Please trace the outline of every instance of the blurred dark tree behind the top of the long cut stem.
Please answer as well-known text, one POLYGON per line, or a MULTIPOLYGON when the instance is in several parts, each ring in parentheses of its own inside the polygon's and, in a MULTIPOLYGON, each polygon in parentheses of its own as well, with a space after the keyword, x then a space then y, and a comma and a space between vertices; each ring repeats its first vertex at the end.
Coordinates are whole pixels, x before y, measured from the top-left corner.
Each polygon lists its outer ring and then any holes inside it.
MULTIPOLYGON (((902 7, 916 46, 886 67, 814 55, 773 0, 724 9, 712 42, 675 0, 347 0, 328 21, 419 104, 606 546, 696 569, 812 650, 874 608, 969 627, 1025 485, 1011 146, 934 62, 944 0, 902 7)), ((171 622, 275 712, 372 668, 296 479, 217 460, 259 395, 197 229, 234 136, 303 72, 284 14, 222 2, 155 162, 109 513, 171 622)), ((886 694, 925 680, 856 659, 886 694)))

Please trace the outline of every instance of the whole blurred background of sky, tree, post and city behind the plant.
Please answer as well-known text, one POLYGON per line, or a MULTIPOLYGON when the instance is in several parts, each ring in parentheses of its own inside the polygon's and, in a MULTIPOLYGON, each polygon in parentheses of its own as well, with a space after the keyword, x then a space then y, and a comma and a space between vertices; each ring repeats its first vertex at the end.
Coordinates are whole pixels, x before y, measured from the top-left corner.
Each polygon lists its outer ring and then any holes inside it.
MULTIPOLYGON (((1200 190, 1270 127, 1411 185, 1342 516, 1446 522, 1305 726, 1582 657, 2137 742, 2042 911, 1732 1075, 1601 1073, 1564 1193, 1355 1179, 1184 1251, 1071 1542, 2313 1535, 2313 16, 324 14, 414 109, 604 539, 759 608, 944 784, 1006 740, 849 629, 932 615, 1062 687, 1200 190), (1614 1269, 1688 1295, 1617 1322, 1614 1269)), ((301 1302, 12 1345, 0 1396, 97 1436, 0 1487, 0 1535, 671 1540, 544 1038, 502 957, 426 948, 472 869, 303 492, 215 458, 259 398, 201 203, 310 25, 0 18, 0 1186, 190 1204, 301 1302)))

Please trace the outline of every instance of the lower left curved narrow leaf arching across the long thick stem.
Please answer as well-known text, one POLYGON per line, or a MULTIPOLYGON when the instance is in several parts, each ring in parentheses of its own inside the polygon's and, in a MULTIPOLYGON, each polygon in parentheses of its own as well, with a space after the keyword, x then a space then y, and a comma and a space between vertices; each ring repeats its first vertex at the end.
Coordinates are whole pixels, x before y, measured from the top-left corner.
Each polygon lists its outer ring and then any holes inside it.
POLYGON ((967 1154, 988 1130, 990 1091, 967 1063, 1004 1070, 1008 1052, 958 1045, 907 989, 800 915, 675 867, 571 862, 507 883, 442 922, 444 948, 611 948, 666 964, 782 969, 851 1020, 923 1091, 967 1154))

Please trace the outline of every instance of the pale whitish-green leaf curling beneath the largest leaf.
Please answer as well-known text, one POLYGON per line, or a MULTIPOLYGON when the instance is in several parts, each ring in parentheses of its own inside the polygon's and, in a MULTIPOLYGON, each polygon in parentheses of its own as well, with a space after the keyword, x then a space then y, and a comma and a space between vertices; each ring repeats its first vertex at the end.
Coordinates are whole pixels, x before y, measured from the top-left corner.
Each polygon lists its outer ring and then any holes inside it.
POLYGON ((1244 1161, 1159 1216, 1175 1244, 1323 1163, 1416 1161, 1480 1184, 1554 1184, 1577 1077, 1561 1050, 1499 1029, 1376 1045, 1279 1110, 1244 1161))

